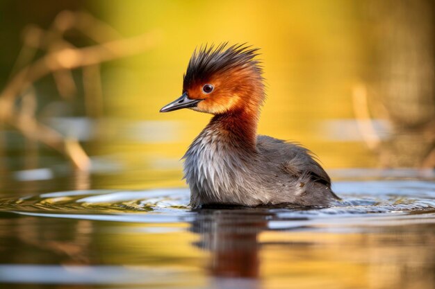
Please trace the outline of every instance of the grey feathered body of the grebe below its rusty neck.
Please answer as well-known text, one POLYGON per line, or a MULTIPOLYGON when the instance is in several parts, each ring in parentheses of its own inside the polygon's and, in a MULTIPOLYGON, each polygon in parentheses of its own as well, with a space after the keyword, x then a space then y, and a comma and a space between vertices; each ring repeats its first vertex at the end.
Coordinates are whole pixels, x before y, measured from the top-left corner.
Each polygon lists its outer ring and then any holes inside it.
POLYGON ((201 204, 290 203, 327 205, 337 198, 329 176, 309 150, 272 137, 258 136, 247 151, 208 126, 184 156, 192 207, 201 204))

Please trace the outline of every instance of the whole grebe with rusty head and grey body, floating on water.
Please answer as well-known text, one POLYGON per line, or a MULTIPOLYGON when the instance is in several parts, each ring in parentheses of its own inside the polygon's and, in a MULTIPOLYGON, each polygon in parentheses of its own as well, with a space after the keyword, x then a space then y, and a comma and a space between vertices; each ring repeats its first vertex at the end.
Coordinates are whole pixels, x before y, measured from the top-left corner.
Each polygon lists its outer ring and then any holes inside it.
POLYGON ((256 134, 263 78, 253 60, 256 50, 240 47, 194 53, 183 96, 162 109, 215 114, 184 156, 190 205, 328 205, 338 197, 309 150, 256 134), (213 87, 210 92, 206 85, 213 87))

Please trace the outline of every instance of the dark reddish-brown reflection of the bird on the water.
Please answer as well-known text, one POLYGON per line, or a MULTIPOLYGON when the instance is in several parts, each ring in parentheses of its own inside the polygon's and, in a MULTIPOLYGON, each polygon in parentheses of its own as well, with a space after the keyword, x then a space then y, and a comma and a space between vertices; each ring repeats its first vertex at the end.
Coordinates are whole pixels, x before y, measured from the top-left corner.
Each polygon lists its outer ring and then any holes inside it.
POLYGON ((212 252, 211 274, 258 278, 258 233, 267 228, 272 215, 243 209, 202 209, 197 213, 192 231, 201 236, 196 245, 212 252))

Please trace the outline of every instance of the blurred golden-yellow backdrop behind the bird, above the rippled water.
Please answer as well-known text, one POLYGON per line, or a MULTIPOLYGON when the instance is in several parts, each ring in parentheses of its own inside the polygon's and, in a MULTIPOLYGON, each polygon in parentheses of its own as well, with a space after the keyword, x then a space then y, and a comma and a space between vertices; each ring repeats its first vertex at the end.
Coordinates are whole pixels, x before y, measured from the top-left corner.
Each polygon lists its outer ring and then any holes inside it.
MULTIPOLYGON (((77 137, 94 162, 97 157, 115 161, 129 186, 183 185, 179 159, 211 116, 158 110, 181 94, 192 51, 221 42, 261 48, 268 100, 260 134, 302 143, 326 168, 433 167, 433 13, 424 13, 433 6, 429 1, 92 0, 2 5, 3 13, 9 11, 3 26, 10 24, 11 30, 1 35, 12 37, 3 47, 11 50, 1 56, 2 84, 8 82, 19 51, 17 31, 30 23, 49 28, 65 9, 88 11, 122 37, 152 35, 149 48, 101 65, 103 113, 90 118, 95 127, 88 139, 77 137), (415 108, 413 114, 409 107, 415 108), (403 121, 400 117, 406 118, 408 110, 416 117, 403 121), (396 135, 408 137, 397 141, 396 135), (134 171, 138 174, 133 177, 134 171)), ((71 42, 79 40, 79 47, 90 44, 76 34, 69 37, 71 42)), ((76 78, 81 72, 74 73, 76 78)), ((54 86, 49 81, 35 83, 40 107, 59 101, 58 91, 47 89, 54 86)), ((82 94, 77 89, 76 100, 67 101, 74 107, 67 114, 48 106, 38 108, 37 116, 88 118, 82 94)))

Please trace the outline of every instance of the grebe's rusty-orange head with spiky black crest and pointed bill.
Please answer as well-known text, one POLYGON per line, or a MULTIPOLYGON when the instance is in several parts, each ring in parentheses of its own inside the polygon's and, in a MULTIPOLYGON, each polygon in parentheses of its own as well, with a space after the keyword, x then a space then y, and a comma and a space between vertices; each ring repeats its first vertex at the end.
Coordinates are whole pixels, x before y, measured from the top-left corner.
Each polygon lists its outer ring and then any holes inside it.
POLYGON ((220 44, 192 54, 183 78, 183 94, 161 112, 190 108, 209 114, 258 114, 265 98, 258 49, 220 44))

